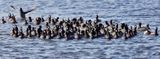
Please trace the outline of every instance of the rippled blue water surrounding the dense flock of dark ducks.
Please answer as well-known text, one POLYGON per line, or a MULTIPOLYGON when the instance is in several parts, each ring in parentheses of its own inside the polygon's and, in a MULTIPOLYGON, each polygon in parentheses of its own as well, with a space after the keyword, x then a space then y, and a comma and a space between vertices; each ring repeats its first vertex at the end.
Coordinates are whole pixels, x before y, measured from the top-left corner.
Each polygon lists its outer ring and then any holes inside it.
MULTIPOLYGON (((19 18, 19 8, 35 8, 27 14, 32 17, 113 20, 117 23, 150 24, 160 29, 160 0, 0 0, 0 17, 14 13, 19 18), (12 9, 10 6, 14 6, 12 9)), ((18 23, 18 26, 23 26, 18 23)), ((160 59, 160 36, 139 33, 125 41, 122 38, 93 40, 42 40, 19 39, 8 35, 13 24, 0 24, 0 59, 160 59)), ((24 26, 25 27, 25 26, 24 26)), ((158 31, 159 32, 159 31, 158 31)), ((159 32, 160 33, 160 32, 159 32)))

